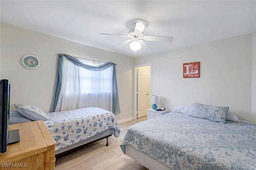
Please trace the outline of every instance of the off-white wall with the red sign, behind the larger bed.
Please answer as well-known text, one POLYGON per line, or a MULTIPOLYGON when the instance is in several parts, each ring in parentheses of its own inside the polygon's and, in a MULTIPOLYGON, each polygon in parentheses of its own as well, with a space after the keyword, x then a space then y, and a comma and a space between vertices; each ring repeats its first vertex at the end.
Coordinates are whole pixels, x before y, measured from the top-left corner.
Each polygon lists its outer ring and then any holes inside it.
POLYGON ((142 63, 152 63, 152 95, 162 97, 162 107, 228 106, 252 121, 252 34, 137 57, 142 63), (183 78, 183 63, 196 61, 200 78, 183 78))

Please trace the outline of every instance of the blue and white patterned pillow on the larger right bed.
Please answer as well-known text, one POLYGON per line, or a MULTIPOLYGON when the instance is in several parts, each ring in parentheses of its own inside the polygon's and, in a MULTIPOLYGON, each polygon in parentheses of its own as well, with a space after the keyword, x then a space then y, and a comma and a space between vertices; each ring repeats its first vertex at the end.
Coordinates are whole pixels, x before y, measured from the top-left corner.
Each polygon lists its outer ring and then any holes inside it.
POLYGON ((192 103, 190 112, 191 117, 199 117, 213 122, 226 123, 226 114, 229 107, 225 106, 211 106, 201 103, 192 103))

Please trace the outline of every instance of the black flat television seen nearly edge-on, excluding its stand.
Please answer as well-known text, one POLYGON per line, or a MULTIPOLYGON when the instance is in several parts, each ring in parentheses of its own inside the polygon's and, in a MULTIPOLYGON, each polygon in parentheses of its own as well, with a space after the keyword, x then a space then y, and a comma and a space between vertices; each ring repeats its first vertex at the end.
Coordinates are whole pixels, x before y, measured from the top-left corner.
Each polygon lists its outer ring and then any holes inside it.
POLYGON ((10 118, 10 83, 0 80, 0 152, 6 152, 10 118))

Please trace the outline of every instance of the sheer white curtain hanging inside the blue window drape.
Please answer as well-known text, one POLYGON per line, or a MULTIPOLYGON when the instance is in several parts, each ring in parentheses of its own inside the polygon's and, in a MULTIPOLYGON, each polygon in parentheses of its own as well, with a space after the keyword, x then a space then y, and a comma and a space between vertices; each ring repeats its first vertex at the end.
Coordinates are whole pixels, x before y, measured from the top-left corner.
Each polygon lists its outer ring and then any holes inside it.
MULTIPOLYGON (((76 58, 92 66, 103 64, 99 61, 76 58)), ((100 107, 112 112, 113 67, 104 71, 88 71, 63 60, 62 86, 55 111, 84 107, 100 107)))

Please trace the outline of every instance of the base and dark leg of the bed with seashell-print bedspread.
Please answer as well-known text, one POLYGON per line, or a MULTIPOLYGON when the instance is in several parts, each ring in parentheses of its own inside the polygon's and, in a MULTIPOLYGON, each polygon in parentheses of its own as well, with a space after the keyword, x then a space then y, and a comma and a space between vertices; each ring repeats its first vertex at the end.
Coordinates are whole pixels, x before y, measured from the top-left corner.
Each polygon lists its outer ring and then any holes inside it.
POLYGON ((112 136, 112 134, 114 134, 114 129, 107 129, 104 132, 98 133, 95 136, 92 136, 92 137, 90 137, 90 138, 88 138, 86 140, 83 140, 83 141, 78 142, 76 144, 72 144, 72 145, 70 145, 68 147, 65 147, 65 148, 62 148, 60 150, 55 151, 55 156, 59 157, 60 155, 64 154, 64 152, 68 152, 68 151, 70 151, 70 150, 72 150, 74 148, 77 148, 79 146, 82 146, 84 144, 89 144, 89 143, 92 143, 92 142, 96 142, 96 141, 102 140, 104 138, 107 139, 106 146, 108 146, 108 137, 112 136))

